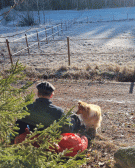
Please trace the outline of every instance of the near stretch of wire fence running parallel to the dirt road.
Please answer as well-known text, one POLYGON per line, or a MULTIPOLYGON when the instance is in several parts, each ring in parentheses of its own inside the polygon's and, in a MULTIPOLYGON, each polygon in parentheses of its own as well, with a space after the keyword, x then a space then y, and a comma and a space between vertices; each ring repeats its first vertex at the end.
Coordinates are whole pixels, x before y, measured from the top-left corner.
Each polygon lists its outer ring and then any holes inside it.
MULTIPOLYGON (((25 65, 47 68, 70 65, 86 67, 88 64, 92 63, 114 63, 123 66, 135 65, 134 48, 125 48, 120 50, 113 47, 112 49, 105 50, 104 48, 101 49, 95 47, 97 42, 100 41, 101 43, 102 40, 108 40, 108 38, 75 39, 67 37, 67 39, 59 39, 59 36, 57 35, 56 40, 54 40, 53 36, 51 36, 51 39, 49 39, 49 36, 47 37, 48 41, 46 40, 46 37, 41 40, 37 38, 36 41, 29 41, 30 45, 26 45, 27 42, 24 41, 26 47, 19 51, 16 51, 17 46, 16 48, 13 48, 13 44, 20 46, 23 42, 20 44, 12 42, 12 50, 10 50, 10 47, 7 47, 7 55, 1 55, 3 66, 5 65, 6 67, 6 63, 12 64, 18 59, 25 65)), ((117 39, 121 41, 124 38, 117 39)), ((130 38, 125 38, 124 40, 128 39, 130 38)), ((9 46, 9 44, 10 43, 7 41, 7 46, 9 46)))

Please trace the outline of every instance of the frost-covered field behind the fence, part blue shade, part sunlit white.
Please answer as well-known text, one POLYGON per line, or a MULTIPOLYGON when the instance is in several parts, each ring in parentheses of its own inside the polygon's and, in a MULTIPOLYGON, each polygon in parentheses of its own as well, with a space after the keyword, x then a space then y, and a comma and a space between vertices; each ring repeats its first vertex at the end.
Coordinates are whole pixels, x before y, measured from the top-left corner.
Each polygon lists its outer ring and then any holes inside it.
MULTIPOLYGON (((0 13, 2 13, 1 11, 0 13)), ((25 30, 27 35, 31 35, 36 30, 44 30, 44 15, 40 11, 41 24, 34 27, 17 27, 14 26, 19 22, 21 17, 25 16, 24 12, 12 11, 15 14, 14 21, 0 23, 0 42, 5 42, 7 37, 9 42, 17 38, 24 37, 25 30), (17 13, 17 14, 16 14, 17 13), (21 34, 20 34, 21 33, 21 34)), ((34 19, 38 19, 37 12, 33 12, 34 19)), ((0 17, 2 19, 2 17, 0 17)), ((27 50, 20 53, 21 56, 13 56, 13 60, 18 58, 20 62, 34 67, 56 67, 67 65, 67 41, 70 38, 71 64, 78 66, 86 66, 89 63, 118 63, 120 65, 134 66, 135 64, 135 8, 111 8, 111 9, 95 9, 95 10, 59 10, 45 11, 46 26, 52 26, 56 23, 65 23, 65 21, 74 20, 75 24, 68 28, 67 31, 56 35, 55 41, 49 44, 40 43, 40 50, 37 44, 30 49, 33 56, 28 56, 27 50), (88 23, 87 23, 88 22, 88 23), (46 54, 46 55, 42 55, 46 54)), ((35 36, 28 40, 36 40, 35 36)), ((40 40, 45 38, 45 32, 39 34, 40 40)), ((23 43, 10 43, 11 53, 15 53, 18 49, 26 47, 25 38, 23 43)), ((2 44, 2 43, 1 43, 2 44)), ((4 44, 5 45, 5 44, 4 44)), ((10 62, 7 49, 0 45, 1 60, 10 62), (4 55, 4 56, 3 56, 4 55), (8 58, 8 59, 7 59, 8 58)))

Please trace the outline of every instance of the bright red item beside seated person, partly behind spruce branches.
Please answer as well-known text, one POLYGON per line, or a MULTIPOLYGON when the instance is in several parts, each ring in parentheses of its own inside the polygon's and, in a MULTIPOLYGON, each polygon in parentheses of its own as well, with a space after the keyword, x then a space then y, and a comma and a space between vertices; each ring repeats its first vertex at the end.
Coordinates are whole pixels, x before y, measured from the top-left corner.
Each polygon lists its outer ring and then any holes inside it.
MULTIPOLYGON (((25 132, 19 136, 17 136, 14 140, 15 144, 21 143, 25 140, 26 135, 29 134, 29 129, 26 128, 25 132)), ((54 148, 54 150, 59 153, 64 151, 65 149, 71 149, 72 148, 72 152, 67 153, 66 156, 75 156, 78 152, 82 152, 85 149, 87 149, 88 147, 88 139, 85 136, 81 136, 80 134, 74 134, 74 133, 63 133, 62 135, 62 139, 58 144, 55 144, 54 146, 56 146, 56 148, 54 148)), ((32 137, 31 139, 34 139, 35 137, 38 137, 39 135, 35 135, 34 137, 32 137)), ((35 147, 40 147, 39 144, 37 144, 37 142, 33 143, 33 146, 35 147)), ((50 150, 53 149, 52 147, 50 147, 50 150)))

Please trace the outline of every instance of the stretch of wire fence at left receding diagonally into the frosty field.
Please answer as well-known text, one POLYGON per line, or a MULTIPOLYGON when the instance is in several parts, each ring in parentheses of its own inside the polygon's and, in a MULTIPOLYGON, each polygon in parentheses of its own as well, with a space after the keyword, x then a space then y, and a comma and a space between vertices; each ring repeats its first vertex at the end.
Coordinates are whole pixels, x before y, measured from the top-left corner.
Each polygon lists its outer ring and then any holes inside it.
MULTIPOLYGON (((8 40, 8 38, 6 38, 5 42, 1 42, 1 44, 4 44, 2 50, 5 50, 6 54, 2 54, 1 52, 0 62, 3 62, 3 65, 6 67, 5 64, 7 60, 10 60, 11 64, 13 64, 17 59, 21 60, 21 58, 23 57, 25 57, 25 60, 27 60, 27 56, 33 56, 33 50, 37 49, 40 55, 48 55, 48 53, 42 53, 42 48, 48 48, 48 46, 51 47, 54 42, 60 40, 62 38, 63 31, 68 30, 69 27, 72 26, 72 24, 73 21, 64 23, 61 22, 60 24, 57 24, 55 26, 42 27, 39 31, 38 29, 34 29, 35 32, 33 32, 32 34, 27 35, 25 33, 19 38, 12 38, 11 40, 8 40)), ((36 51, 35 54, 39 55, 38 52, 36 51)), ((55 53, 53 53, 52 55, 55 55, 55 53)), ((59 53, 57 55, 62 55, 62 53, 59 53)))

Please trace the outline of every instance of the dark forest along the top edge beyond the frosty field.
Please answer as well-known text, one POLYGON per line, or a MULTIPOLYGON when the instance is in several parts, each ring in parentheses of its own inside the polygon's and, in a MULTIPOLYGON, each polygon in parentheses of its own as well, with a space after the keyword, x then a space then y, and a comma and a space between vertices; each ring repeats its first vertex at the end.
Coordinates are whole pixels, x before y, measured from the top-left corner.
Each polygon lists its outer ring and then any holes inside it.
POLYGON ((135 6, 135 0, 0 0, 0 9, 21 2, 18 10, 99 9, 135 6))

